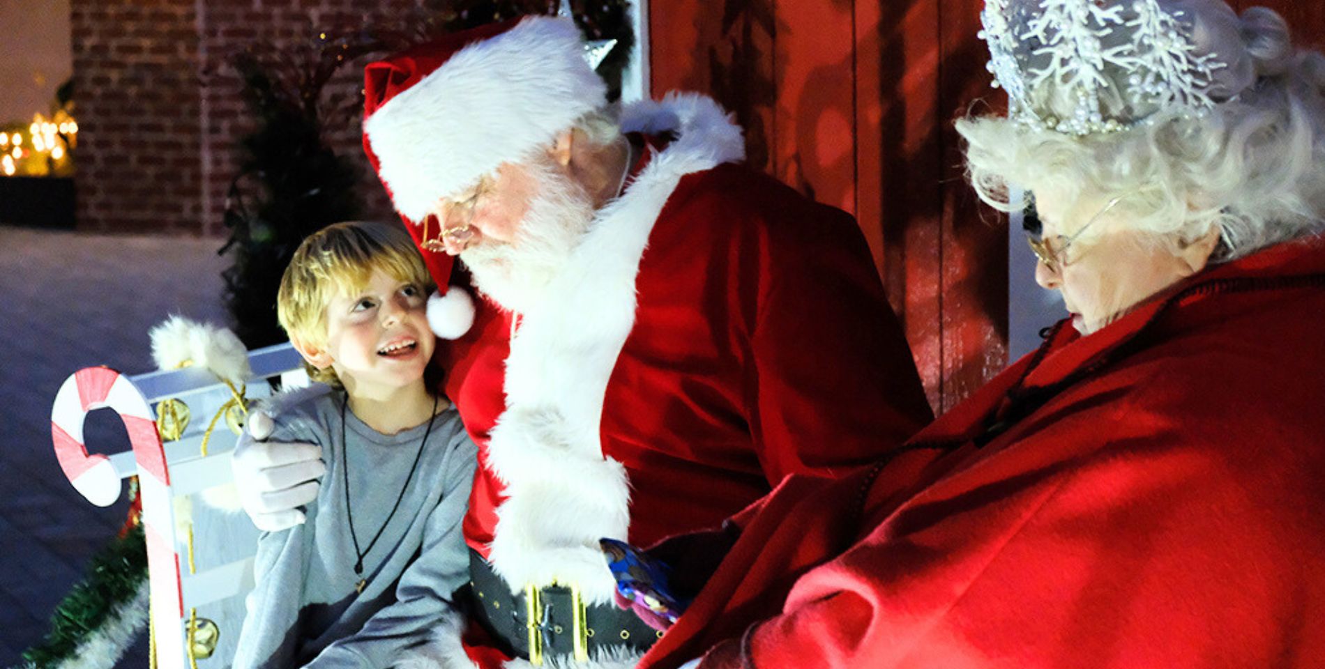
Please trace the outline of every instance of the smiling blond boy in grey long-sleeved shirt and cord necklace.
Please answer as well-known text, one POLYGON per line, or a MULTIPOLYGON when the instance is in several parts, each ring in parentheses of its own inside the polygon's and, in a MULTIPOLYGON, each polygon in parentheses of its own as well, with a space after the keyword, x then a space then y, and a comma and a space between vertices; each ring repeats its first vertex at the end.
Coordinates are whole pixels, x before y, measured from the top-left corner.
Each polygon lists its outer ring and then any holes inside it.
POLYGON ((309 237, 277 314, 313 386, 274 403, 273 438, 322 446, 307 521, 258 540, 235 668, 390 666, 469 580, 460 534, 476 446, 424 382, 432 286, 399 225, 309 237))

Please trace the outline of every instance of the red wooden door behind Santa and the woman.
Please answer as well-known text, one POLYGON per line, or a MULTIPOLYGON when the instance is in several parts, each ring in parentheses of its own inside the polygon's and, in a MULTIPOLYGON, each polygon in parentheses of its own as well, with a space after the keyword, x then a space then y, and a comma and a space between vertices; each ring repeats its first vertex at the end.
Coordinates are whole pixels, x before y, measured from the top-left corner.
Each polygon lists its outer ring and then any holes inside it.
MULTIPOLYGON (((1284 13, 1306 44, 1325 4, 1284 13)), ((653 94, 714 95, 750 162, 856 215, 943 411, 1007 364, 1007 223, 966 184, 953 121, 1002 109, 983 0, 655 0, 653 94)), ((1032 277, 1014 277, 1030 282, 1032 277)))

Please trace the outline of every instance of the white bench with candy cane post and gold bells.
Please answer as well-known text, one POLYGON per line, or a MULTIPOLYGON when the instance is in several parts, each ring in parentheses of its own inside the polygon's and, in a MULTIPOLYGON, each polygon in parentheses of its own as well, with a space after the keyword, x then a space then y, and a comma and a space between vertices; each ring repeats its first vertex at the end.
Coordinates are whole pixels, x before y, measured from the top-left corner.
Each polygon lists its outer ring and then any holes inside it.
MULTIPOLYGON (((285 388, 307 383, 290 344, 250 351, 249 366, 249 400, 269 396, 266 380, 276 376, 282 378, 285 388)), ((207 454, 201 453, 208 424, 231 397, 231 389, 204 368, 129 376, 107 367, 87 367, 65 380, 52 407, 56 457, 87 501, 109 506, 121 495, 121 481, 138 477, 147 538, 150 625, 155 666, 160 669, 229 666, 244 616, 244 595, 253 588, 257 529, 242 513, 195 503, 204 490, 231 482, 231 450, 237 436, 225 420, 216 423, 207 454), (184 403, 191 420, 180 438, 163 444, 155 409, 167 399, 184 403), (87 454, 83 420, 98 408, 119 415, 131 450, 87 454), (208 657, 200 657, 207 653, 195 653, 189 644, 193 631, 219 631, 208 657)))

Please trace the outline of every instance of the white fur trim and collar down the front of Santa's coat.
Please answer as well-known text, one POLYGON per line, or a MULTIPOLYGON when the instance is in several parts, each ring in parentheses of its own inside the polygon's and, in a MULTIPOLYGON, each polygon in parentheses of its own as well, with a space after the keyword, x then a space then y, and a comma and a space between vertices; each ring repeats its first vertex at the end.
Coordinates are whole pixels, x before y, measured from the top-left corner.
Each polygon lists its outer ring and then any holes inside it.
POLYGON ((612 600, 598 542, 624 540, 629 481, 604 457, 603 397, 635 326, 635 277, 662 205, 688 174, 743 158, 741 129, 710 98, 669 95, 623 113, 623 130, 678 138, 598 212, 550 298, 522 314, 506 359, 506 412, 488 466, 505 484, 490 562, 519 591, 578 584, 591 604, 612 600))

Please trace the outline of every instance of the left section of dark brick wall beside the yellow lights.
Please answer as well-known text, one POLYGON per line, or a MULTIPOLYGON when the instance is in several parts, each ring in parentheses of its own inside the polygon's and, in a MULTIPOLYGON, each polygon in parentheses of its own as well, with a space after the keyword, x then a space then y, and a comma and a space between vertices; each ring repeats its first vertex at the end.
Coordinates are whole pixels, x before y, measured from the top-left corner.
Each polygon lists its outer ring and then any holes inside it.
POLYGON ((73 0, 70 29, 80 227, 200 232, 195 0, 73 0))

